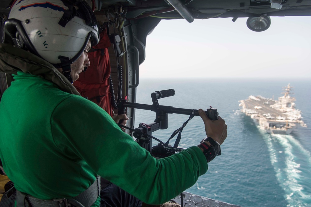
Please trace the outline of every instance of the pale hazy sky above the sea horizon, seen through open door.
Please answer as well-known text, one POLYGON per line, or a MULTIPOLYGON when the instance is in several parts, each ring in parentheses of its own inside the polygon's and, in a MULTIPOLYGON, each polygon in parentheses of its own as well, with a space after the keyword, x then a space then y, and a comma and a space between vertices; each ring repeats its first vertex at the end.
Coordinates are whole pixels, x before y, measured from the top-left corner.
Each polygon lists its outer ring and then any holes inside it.
POLYGON ((311 17, 271 17, 254 32, 247 18, 161 20, 147 36, 140 77, 311 79, 311 17))

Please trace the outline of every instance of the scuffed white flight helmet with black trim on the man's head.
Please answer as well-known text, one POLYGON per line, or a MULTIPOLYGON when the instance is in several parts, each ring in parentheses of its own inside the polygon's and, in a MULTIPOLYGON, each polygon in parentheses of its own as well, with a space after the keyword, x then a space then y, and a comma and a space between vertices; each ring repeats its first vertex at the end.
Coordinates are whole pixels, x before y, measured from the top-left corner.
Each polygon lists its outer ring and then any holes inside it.
POLYGON ((91 39, 99 42, 97 22, 85 0, 15 0, 7 31, 16 46, 64 68, 76 61, 91 39))

